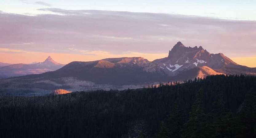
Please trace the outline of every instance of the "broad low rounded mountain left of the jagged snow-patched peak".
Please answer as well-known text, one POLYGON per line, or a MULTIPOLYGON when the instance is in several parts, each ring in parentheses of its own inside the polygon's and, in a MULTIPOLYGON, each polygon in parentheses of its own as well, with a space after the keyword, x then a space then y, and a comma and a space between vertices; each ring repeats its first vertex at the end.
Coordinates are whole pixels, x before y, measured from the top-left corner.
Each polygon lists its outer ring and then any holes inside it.
POLYGON ((167 80, 154 63, 141 57, 112 58, 91 62, 71 62, 57 71, 22 76, 23 79, 77 78, 98 84, 130 85, 167 80))

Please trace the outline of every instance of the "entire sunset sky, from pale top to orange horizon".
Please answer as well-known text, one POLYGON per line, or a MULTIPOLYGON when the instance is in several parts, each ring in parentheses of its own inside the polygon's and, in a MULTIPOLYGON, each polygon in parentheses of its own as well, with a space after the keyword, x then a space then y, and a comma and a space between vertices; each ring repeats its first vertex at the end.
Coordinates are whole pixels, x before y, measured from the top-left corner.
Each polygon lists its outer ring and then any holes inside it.
POLYGON ((1 0, 0 62, 168 56, 181 41, 256 67, 256 1, 1 0))

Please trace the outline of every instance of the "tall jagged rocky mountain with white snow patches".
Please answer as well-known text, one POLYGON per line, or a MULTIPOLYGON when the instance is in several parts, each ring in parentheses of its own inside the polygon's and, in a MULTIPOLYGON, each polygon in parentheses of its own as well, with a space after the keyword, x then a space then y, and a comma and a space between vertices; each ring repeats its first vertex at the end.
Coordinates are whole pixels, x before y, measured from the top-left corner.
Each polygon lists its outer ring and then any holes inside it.
POLYGON ((256 75, 256 68, 238 65, 222 53, 211 54, 201 46, 199 48, 197 46, 194 48, 185 47, 181 42, 175 44, 169 51, 168 57, 156 59, 153 63, 156 63, 170 76, 179 75, 182 71, 189 71, 196 67, 204 67, 203 70, 208 67, 208 69, 215 71, 204 71, 206 75, 214 75, 216 72, 221 74, 242 73, 256 75))

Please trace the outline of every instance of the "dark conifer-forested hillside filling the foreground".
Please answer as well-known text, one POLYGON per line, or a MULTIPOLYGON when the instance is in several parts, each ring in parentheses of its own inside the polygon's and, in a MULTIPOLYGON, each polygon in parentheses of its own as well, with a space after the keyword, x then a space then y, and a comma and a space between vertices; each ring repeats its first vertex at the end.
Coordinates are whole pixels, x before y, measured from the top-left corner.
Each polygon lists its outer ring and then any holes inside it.
POLYGON ((0 137, 253 138, 255 87, 255 76, 215 75, 136 90, 0 95, 0 137))

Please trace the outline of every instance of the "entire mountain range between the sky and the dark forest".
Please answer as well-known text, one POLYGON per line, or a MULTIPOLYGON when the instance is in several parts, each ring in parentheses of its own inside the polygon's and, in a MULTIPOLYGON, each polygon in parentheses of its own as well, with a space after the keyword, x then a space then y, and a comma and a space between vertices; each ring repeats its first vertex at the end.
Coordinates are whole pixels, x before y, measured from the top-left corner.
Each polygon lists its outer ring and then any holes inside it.
POLYGON ((0 68, 6 71, 56 71, 0 79, 0 93, 49 94, 56 89, 109 90, 141 88, 159 82, 183 81, 219 74, 256 75, 256 68, 241 66, 222 53, 211 54, 203 47, 185 47, 181 42, 169 51, 168 57, 152 62, 142 57, 108 58, 89 62, 71 62, 64 67, 50 57, 32 65, 15 64, 0 68), (28 70, 28 68, 30 70, 28 70), (58 69, 58 70, 57 70, 58 69))

